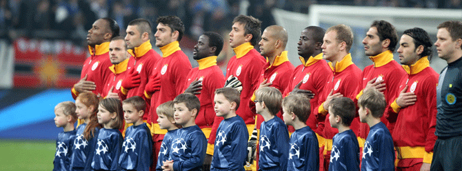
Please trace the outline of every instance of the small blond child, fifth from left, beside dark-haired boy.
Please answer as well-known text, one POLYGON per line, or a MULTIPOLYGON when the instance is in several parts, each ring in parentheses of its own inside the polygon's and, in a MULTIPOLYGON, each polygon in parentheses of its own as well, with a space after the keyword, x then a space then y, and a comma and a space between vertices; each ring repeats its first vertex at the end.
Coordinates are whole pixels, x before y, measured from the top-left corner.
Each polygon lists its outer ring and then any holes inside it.
POLYGON ((173 118, 174 105, 173 101, 167 101, 159 105, 156 109, 157 112, 157 123, 163 130, 168 130, 163 137, 159 156, 157 156, 156 170, 162 170, 163 161, 168 161, 168 154, 170 154, 170 146, 172 140, 177 137, 177 130, 181 128, 181 125, 177 125, 177 122, 173 118))

